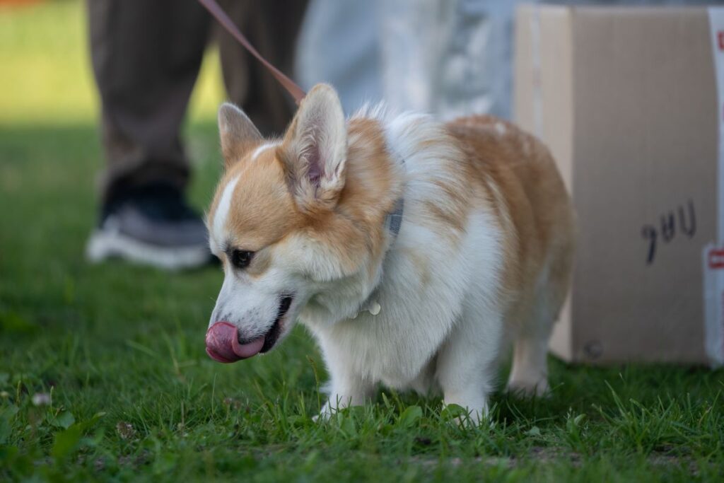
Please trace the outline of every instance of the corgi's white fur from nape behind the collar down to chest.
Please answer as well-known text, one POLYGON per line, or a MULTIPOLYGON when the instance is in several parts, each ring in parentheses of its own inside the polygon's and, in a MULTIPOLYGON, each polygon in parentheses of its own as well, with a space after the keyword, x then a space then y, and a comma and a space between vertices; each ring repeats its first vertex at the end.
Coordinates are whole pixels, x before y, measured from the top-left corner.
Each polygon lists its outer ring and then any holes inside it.
MULTIPOLYGON (((458 154, 446 152, 445 146, 432 153, 421 150, 416 146, 421 139, 411 138, 410 123, 416 124, 413 133, 437 134, 437 125, 419 116, 397 118, 388 127, 390 148, 404 161, 405 209, 379 285, 369 298, 379 303, 379 314, 363 306, 355 318, 334 320, 335 313, 345 313, 350 292, 340 287, 339 293, 330 291, 311 301, 300 321, 316 335, 330 370, 344 374, 345 381, 426 392, 439 388, 436 356, 460 319, 475 321, 465 330, 476 334, 473 347, 459 350, 488 353, 491 358, 498 353, 502 321, 491 311, 499 305, 501 233, 484 203, 473 207, 459 232, 446 235, 430 224, 430 203, 448 202, 434 180, 445 176, 458 154), (447 156, 440 159, 440 154, 447 156)), ((354 293, 355 280, 348 283, 354 293)), ((450 345, 449 350, 455 349, 450 345)), ((348 392, 336 390, 334 384, 333 376, 333 394, 348 392)))

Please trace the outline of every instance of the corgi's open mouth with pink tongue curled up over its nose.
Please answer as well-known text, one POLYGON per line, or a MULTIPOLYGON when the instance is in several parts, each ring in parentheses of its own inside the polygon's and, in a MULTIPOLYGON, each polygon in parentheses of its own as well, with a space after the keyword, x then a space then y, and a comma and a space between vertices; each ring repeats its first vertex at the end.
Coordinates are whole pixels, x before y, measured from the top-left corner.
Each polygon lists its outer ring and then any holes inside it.
POLYGON ((214 361, 231 363, 266 353, 274 347, 282 334, 284 316, 292 306, 293 296, 282 295, 277 308, 277 317, 266 334, 252 340, 244 340, 239 329, 230 322, 216 322, 206 331, 206 353, 214 361))

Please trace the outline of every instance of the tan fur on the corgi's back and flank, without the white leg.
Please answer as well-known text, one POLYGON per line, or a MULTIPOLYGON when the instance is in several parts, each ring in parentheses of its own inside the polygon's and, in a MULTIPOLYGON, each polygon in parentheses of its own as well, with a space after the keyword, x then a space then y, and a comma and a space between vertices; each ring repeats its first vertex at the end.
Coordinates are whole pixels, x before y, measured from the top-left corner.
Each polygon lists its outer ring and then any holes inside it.
POLYGON ((573 263, 573 211, 550 151, 517 126, 492 116, 456 119, 447 128, 466 155, 466 177, 487 191, 505 233, 503 287, 518 295, 519 304, 529 299, 535 274, 553 253, 560 264, 552 266, 551 282, 560 285, 556 291, 562 303, 573 263))

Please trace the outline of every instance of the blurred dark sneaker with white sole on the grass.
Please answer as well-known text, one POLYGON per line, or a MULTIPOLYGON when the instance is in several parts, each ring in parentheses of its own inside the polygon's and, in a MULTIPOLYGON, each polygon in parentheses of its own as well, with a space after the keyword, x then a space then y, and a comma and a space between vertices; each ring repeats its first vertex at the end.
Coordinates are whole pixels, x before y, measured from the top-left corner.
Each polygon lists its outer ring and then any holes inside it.
POLYGON ((88 260, 119 258, 161 269, 191 269, 211 261, 206 226, 177 188, 127 190, 106 203, 85 248, 88 260))

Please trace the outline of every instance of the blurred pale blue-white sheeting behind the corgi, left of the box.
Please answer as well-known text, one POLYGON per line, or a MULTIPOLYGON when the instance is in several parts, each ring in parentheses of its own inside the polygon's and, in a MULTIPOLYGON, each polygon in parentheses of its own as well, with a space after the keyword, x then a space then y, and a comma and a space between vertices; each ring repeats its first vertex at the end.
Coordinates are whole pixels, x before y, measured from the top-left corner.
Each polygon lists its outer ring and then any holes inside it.
POLYGON ((327 82, 348 114, 385 101, 452 119, 510 117, 520 0, 312 0, 298 41, 303 88, 327 82))

